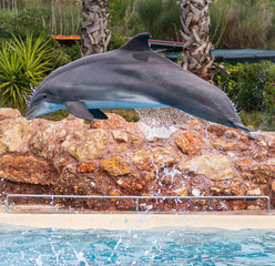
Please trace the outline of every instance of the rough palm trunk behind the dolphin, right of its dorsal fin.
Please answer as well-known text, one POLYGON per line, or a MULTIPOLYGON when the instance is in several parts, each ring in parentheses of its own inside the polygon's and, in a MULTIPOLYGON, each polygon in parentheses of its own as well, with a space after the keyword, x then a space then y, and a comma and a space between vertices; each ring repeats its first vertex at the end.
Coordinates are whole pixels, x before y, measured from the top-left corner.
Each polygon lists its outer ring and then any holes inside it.
POLYGON ((212 80, 210 70, 214 59, 211 57, 210 7, 211 0, 182 0, 181 35, 184 39, 180 65, 204 80, 212 80))

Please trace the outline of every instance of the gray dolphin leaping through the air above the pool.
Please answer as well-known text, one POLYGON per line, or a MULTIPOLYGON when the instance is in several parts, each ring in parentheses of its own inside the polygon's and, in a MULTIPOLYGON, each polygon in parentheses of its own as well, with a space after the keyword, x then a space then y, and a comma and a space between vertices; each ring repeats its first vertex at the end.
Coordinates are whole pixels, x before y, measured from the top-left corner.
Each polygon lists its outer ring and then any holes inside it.
POLYGON ((218 88, 153 52, 149 33, 118 50, 73 61, 48 75, 34 91, 27 119, 68 111, 80 119, 108 119, 100 109, 173 106, 249 132, 218 88))

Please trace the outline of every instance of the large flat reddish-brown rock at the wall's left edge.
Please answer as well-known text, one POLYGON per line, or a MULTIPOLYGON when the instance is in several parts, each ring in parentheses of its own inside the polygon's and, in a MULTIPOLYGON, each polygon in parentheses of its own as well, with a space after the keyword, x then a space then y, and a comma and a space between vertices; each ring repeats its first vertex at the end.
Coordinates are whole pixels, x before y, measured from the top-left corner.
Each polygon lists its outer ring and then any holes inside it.
POLYGON ((13 182, 49 185, 55 184, 57 172, 44 161, 33 156, 3 155, 0 176, 13 182))

